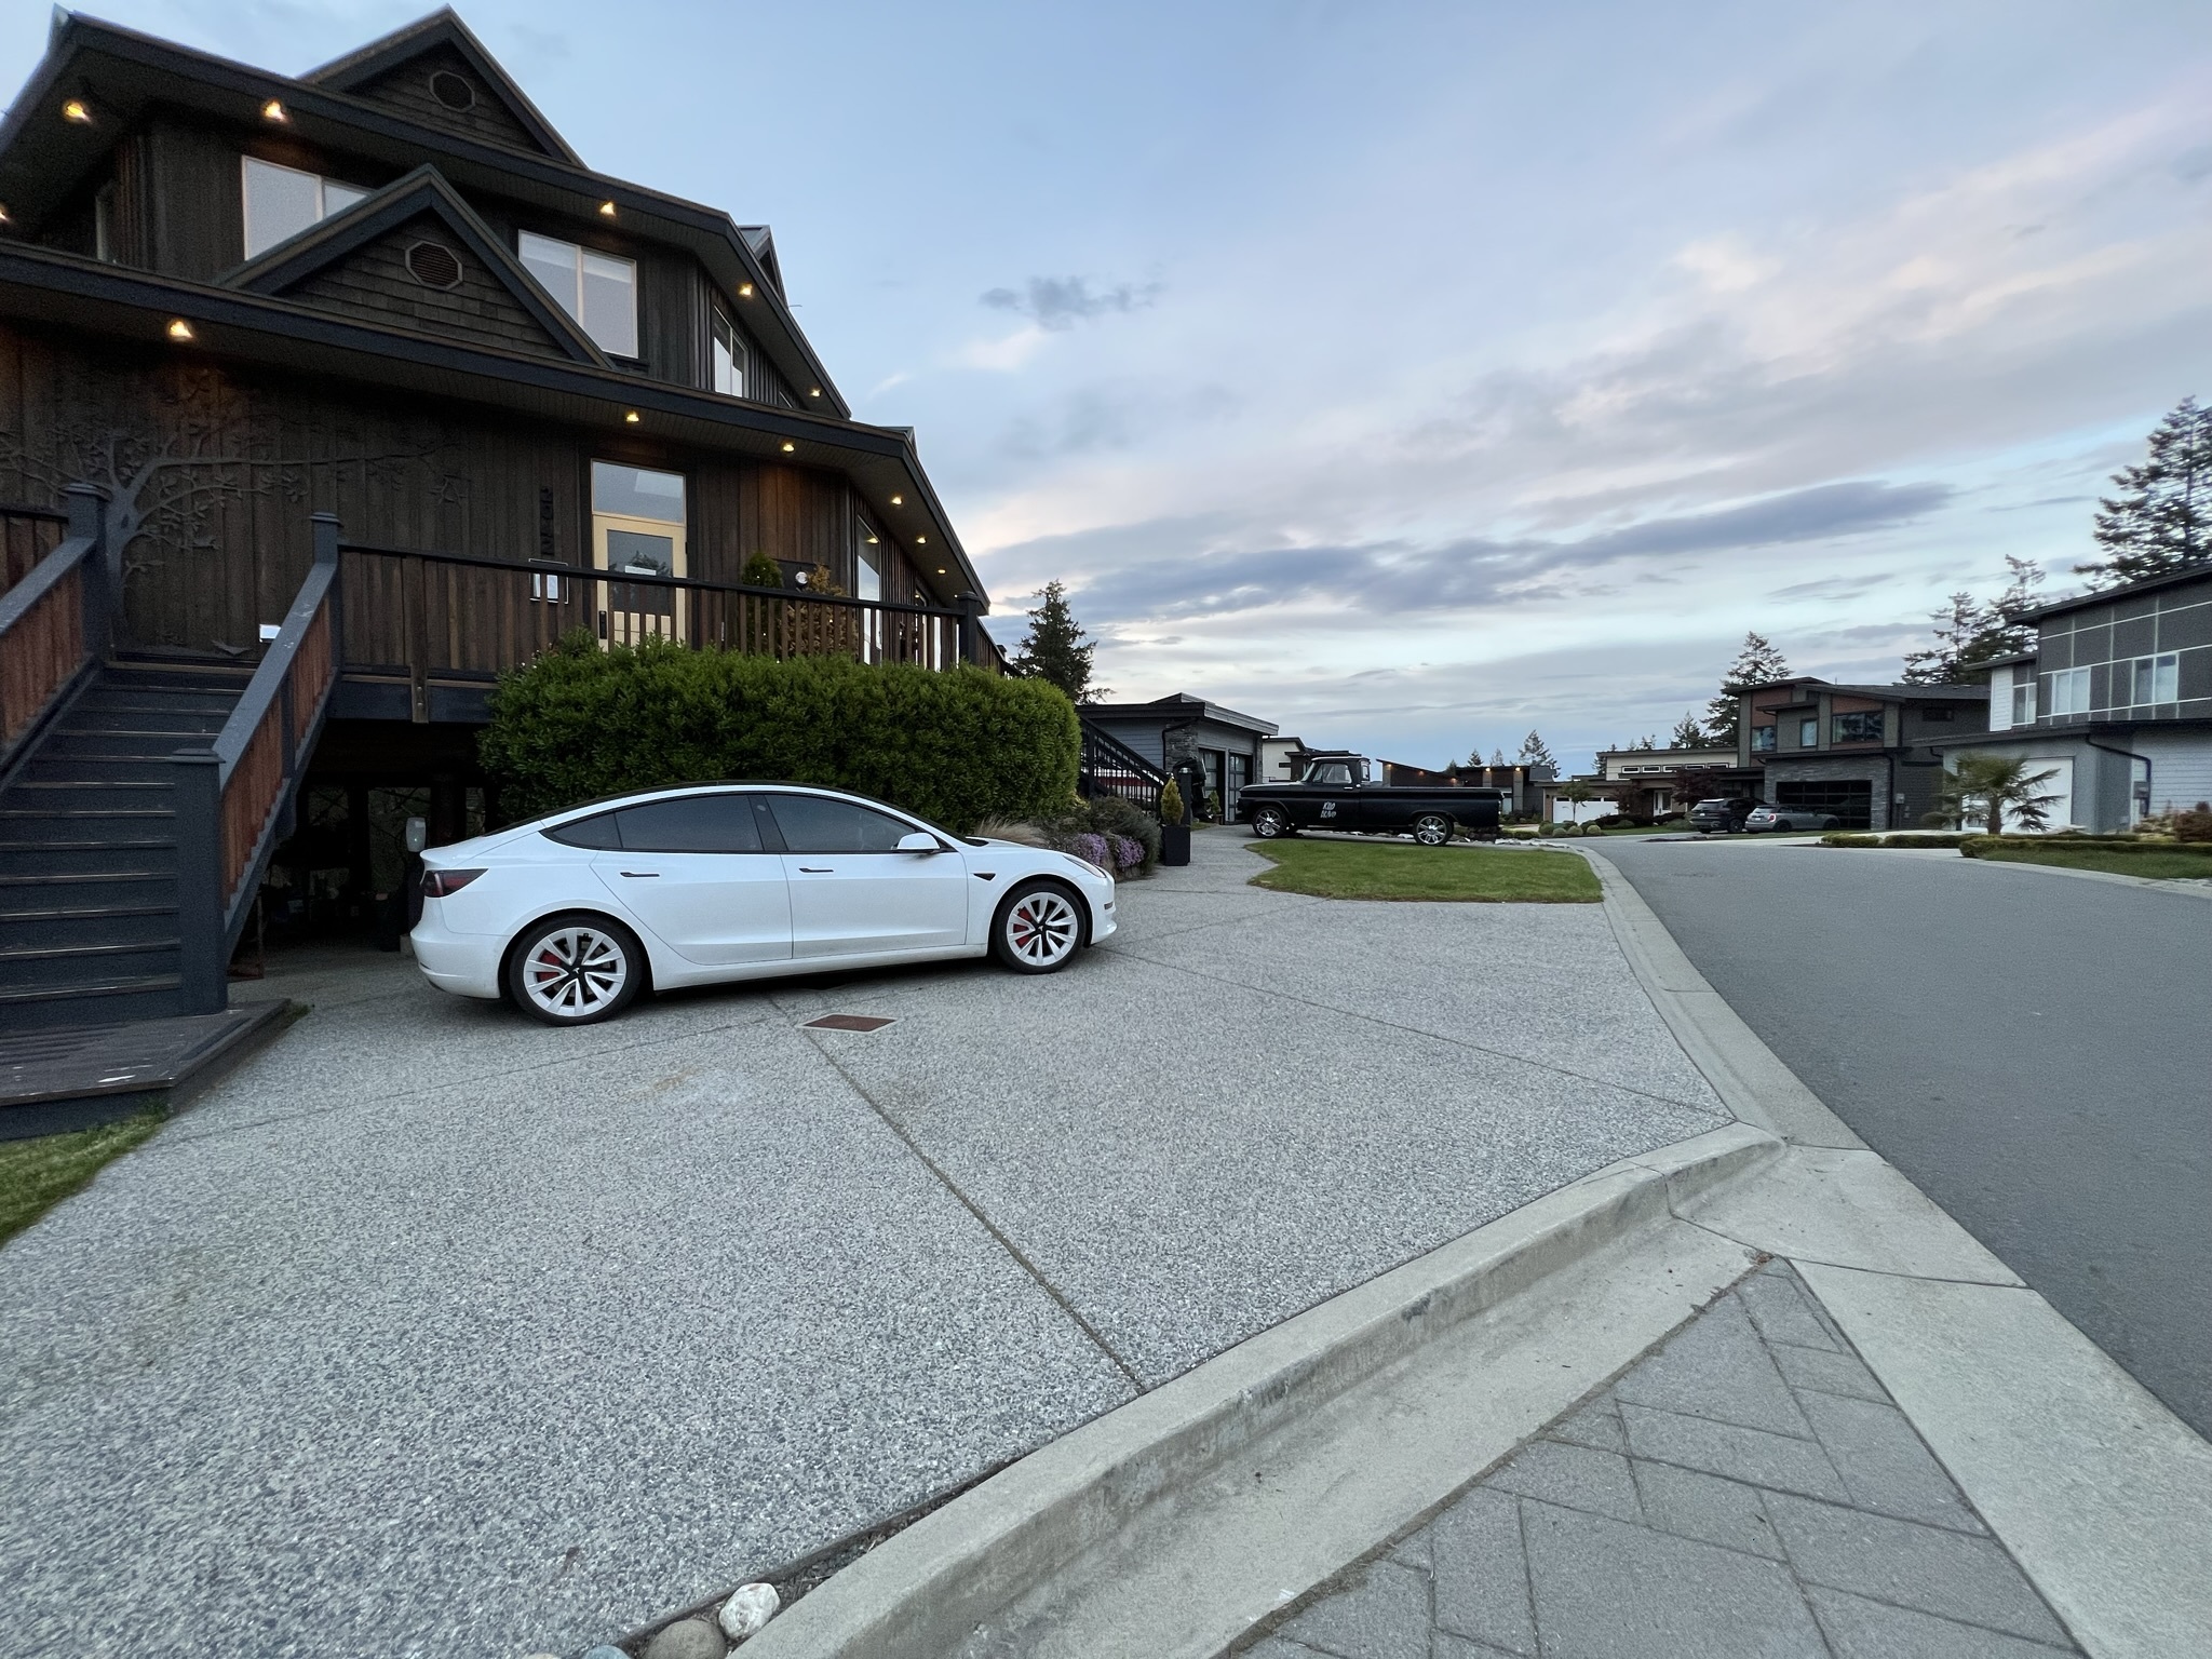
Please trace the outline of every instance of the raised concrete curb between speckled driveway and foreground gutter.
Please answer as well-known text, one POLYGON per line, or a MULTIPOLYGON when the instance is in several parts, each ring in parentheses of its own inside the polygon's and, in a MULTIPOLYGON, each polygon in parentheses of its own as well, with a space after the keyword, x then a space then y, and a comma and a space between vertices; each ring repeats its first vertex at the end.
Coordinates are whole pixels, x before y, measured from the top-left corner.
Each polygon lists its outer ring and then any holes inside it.
MULTIPOLYGON (((1668 1221, 1677 1206, 1778 1150, 1761 1128, 1717 1128, 1586 1175, 1332 1296, 916 1522, 770 1624, 748 1652, 761 1659, 964 1652, 982 1626, 1086 1553, 1110 1546, 1144 1511, 1157 1506, 1172 1517, 1177 1502, 1225 1462, 1285 1436, 1520 1292, 1646 1223, 1668 1221)), ((1564 1398, 1557 1409, 1571 1402, 1564 1398)), ((1371 1542, 1380 1537, 1360 1548, 1371 1542)), ((1172 1619, 1175 1610, 1164 1615, 1172 1619)))

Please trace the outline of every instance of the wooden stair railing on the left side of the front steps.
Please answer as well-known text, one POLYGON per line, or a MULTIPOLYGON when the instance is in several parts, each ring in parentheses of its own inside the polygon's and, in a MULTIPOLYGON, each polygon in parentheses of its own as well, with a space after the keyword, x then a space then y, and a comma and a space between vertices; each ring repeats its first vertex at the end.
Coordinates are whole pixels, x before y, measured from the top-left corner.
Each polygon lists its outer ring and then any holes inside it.
POLYGON ((100 491, 71 484, 66 513, 7 509, 64 524, 64 540, 0 593, 0 776, 108 650, 113 597, 100 546, 100 491))

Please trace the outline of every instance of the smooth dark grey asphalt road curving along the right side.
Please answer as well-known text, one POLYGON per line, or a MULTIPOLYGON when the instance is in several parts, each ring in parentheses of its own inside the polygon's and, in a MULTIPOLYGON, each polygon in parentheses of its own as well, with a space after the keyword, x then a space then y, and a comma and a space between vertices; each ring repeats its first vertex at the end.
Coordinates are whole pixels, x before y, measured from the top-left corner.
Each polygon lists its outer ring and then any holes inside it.
POLYGON ((1604 849, 1843 1121, 2212 1436, 2212 902, 1951 856, 1604 849))

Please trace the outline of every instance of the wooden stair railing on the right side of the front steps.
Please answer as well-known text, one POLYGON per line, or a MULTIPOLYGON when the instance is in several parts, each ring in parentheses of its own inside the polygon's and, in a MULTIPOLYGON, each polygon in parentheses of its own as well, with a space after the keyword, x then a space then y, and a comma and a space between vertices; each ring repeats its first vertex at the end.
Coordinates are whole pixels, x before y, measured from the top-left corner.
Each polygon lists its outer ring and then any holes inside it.
POLYGON ((177 909, 184 1002, 228 1004, 239 940, 270 852, 292 830, 299 774, 343 668, 338 520, 314 515, 314 562, 210 750, 177 750, 177 909))

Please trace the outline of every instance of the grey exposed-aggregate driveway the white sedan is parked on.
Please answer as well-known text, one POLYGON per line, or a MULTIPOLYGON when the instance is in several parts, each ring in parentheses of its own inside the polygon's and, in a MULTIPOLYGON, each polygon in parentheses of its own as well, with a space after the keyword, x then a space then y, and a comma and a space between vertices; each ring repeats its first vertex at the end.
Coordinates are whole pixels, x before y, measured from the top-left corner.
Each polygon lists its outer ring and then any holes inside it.
POLYGON ((303 958, 0 1252, 0 1650, 577 1650, 1723 1115, 1599 907, 1256 869, 1201 834, 1044 980, 584 1031, 303 958))

